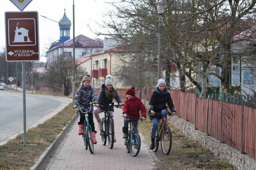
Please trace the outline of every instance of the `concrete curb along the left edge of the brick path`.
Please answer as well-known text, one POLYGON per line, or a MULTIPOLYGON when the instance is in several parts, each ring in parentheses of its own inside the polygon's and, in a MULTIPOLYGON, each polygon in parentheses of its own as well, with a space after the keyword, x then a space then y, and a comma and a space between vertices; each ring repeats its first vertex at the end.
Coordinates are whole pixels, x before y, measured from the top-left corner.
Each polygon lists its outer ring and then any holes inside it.
POLYGON ((78 114, 75 114, 75 116, 68 122, 68 124, 63 128, 63 131, 56 137, 53 144, 51 144, 40 156, 37 163, 34 164, 33 167, 31 167, 29 170, 43 170, 45 163, 47 163, 48 158, 51 156, 51 154, 54 152, 55 148, 61 143, 63 137, 67 134, 67 131, 69 128, 74 124, 76 119, 78 118, 78 114))

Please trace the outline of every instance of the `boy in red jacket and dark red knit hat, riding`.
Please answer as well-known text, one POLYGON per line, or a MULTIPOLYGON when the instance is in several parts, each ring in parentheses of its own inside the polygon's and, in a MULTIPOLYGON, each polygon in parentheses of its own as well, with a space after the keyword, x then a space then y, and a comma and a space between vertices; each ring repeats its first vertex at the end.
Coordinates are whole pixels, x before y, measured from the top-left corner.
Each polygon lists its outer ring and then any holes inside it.
POLYGON ((138 131, 138 119, 140 118, 140 110, 142 119, 146 119, 146 108, 144 104, 141 102, 141 99, 135 96, 134 86, 126 91, 127 99, 123 104, 123 118, 124 118, 124 126, 123 126, 123 138, 128 138, 128 124, 129 119, 133 119, 133 127, 134 131, 138 131))

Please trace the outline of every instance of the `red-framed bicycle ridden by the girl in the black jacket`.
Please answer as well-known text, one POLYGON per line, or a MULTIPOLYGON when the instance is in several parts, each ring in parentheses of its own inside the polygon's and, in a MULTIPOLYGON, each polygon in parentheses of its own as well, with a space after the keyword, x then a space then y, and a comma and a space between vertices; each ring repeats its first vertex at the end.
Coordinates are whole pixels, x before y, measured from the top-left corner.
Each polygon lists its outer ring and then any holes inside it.
POLYGON ((161 114, 158 112, 155 112, 156 115, 159 115, 162 119, 162 121, 159 119, 156 135, 155 135, 155 148, 153 152, 156 152, 158 150, 159 141, 161 141, 161 148, 164 155, 168 155, 171 151, 172 147, 172 132, 170 130, 170 127, 167 124, 167 115, 172 116, 171 112, 161 114), (160 123, 161 121, 161 123, 160 123))

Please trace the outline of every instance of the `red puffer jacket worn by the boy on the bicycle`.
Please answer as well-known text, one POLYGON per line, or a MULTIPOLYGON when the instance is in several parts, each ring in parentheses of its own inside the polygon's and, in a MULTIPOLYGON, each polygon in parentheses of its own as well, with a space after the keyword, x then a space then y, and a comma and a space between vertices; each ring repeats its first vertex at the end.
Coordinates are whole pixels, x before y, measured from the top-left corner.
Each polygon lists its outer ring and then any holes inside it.
POLYGON ((133 119, 140 118, 140 110, 141 110, 141 117, 146 118, 146 108, 144 104, 141 102, 141 99, 138 97, 134 97, 132 99, 126 99, 123 104, 123 114, 126 114, 133 119))

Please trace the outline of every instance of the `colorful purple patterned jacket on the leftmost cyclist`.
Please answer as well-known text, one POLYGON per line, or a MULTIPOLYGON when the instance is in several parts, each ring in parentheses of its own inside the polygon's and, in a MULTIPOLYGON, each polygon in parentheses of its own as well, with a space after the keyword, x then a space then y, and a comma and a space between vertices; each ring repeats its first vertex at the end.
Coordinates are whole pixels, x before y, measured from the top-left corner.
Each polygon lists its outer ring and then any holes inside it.
MULTIPOLYGON (((74 104, 80 105, 83 111, 89 111, 90 103, 95 100, 97 100, 97 94, 92 86, 90 85, 89 87, 86 87, 81 85, 75 94, 74 104)), ((77 110, 79 111, 80 109, 78 108, 77 110)))

